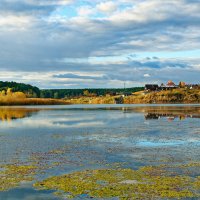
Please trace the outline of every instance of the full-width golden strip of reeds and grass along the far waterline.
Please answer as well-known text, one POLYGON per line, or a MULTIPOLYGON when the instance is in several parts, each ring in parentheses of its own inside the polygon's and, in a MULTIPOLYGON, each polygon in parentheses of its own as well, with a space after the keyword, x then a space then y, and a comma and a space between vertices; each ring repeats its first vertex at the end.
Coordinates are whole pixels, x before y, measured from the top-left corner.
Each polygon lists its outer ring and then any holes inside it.
MULTIPOLYGON (((15 94, 15 93, 14 93, 15 94)), ((69 105, 69 104, 194 104, 200 103, 200 89, 178 88, 167 91, 140 91, 129 96, 81 96, 71 99, 25 98, 5 96, 0 106, 16 105, 69 105)))

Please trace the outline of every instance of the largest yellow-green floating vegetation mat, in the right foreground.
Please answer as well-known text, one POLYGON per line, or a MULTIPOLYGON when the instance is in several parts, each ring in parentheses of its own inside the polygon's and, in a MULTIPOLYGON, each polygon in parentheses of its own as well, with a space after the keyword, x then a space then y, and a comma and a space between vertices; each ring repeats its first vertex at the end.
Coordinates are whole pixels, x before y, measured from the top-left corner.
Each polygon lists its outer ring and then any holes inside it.
POLYGON ((99 169, 55 176, 35 183, 38 189, 76 198, 161 199, 200 197, 200 177, 174 175, 160 167, 99 169))

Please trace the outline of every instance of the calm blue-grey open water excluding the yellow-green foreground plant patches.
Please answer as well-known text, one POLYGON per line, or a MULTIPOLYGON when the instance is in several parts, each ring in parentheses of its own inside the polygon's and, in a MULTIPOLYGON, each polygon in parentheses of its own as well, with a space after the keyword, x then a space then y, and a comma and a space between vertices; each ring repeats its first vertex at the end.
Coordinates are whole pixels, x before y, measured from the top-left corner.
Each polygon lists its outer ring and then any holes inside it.
POLYGON ((36 162, 41 171, 0 199, 57 199, 32 183, 85 169, 200 162, 199 152, 200 105, 1 107, 0 165, 36 162))

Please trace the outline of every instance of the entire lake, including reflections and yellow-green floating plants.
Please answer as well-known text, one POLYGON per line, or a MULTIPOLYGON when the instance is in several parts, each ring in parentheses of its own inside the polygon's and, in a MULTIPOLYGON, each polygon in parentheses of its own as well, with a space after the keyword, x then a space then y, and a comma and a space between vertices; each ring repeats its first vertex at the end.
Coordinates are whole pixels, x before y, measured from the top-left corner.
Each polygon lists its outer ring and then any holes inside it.
POLYGON ((0 127, 2 200, 200 197, 200 105, 0 107, 0 127))

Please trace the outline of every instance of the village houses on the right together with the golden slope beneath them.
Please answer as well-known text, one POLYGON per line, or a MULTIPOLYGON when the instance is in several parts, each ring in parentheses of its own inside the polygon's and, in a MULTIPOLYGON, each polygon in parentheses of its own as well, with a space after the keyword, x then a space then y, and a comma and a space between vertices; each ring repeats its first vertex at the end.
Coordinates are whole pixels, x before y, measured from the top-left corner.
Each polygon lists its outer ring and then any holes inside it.
POLYGON ((146 84, 141 91, 131 93, 125 90, 117 95, 118 97, 115 97, 116 104, 198 103, 200 101, 200 84, 187 84, 181 81, 177 85, 169 80, 166 84, 146 84))

